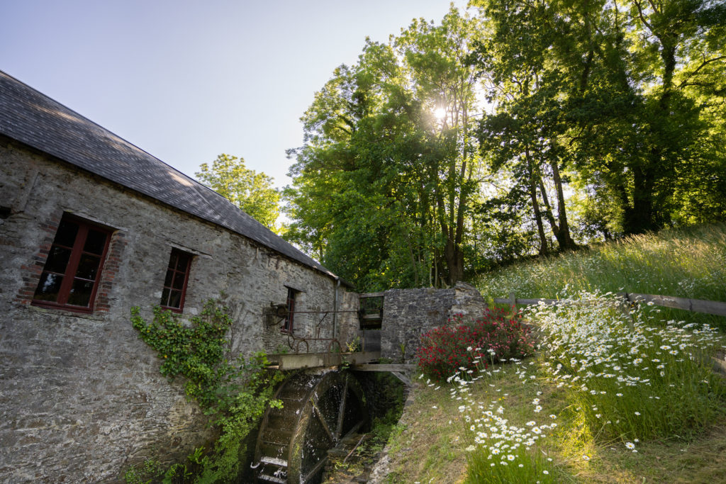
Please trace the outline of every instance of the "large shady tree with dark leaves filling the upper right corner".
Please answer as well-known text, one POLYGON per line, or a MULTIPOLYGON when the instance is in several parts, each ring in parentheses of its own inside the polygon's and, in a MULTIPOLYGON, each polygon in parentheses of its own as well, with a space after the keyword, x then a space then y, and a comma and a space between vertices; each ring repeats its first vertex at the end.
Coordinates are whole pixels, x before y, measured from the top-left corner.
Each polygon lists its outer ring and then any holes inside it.
MULTIPOLYGON (((722 213, 713 197, 698 207, 689 202, 691 194, 707 191, 701 181, 706 172, 717 197, 724 195, 725 158, 714 150, 723 133, 723 118, 714 116, 723 113, 725 94, 722 2, 476 4, 491 29, 478 49, 478 63, 492 77, 499 114, 520 125, 536 120, 530 141, 550 142, 531 153, 550 158, 541 166, 550 166, 555 187, 555 168, 569 170, 598 200, 617 202, 617 210, 609 211, 621 220, 612 222, 626 233, 693 220, 684 212, 705 206, 713 208, 711 216, 722 213), (535 99, 537 91, 546 97, 535 99), (677 186, 685 192, 674 190, 677 186)), ((523 138, 527 131, 516 134, 523 138)), ((563 223, 552 225, 543 187, 540 192, 537 202, 557 237, 563 223)), ((562 247, 560 237, 558 242, 562 247)))

